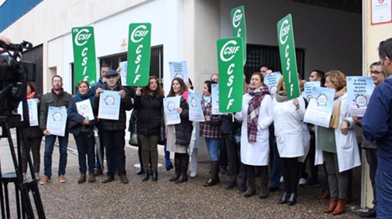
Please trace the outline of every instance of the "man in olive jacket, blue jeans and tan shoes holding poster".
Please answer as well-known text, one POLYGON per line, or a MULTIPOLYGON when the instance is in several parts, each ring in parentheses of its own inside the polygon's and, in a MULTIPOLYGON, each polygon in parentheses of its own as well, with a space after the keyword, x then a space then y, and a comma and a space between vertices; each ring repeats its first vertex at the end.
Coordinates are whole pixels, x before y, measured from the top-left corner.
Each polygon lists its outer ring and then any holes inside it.
MULTIPOLYGON (((40 105, 40 129, 45 135, 45 152, 44 152, 44 174, 45 177, 40 181, 40 184, 46 184, 51 180, 52 176, 52 152, 56 136, 51 135, 49 130, 46 129, 46 119, 49 106, 67 108, 69 100, 72 95, 64 91, 63 79, 55 75, 52 78, 52 90, 41 98, 40 105)), ((68 132, 65 132, 64 137, 58 136, 59 149, 60 149, 60 162, 58 165, 58 176, 60 183, 65 183, 65 167, 67 166, 67 145, 68 145, 68 132)))

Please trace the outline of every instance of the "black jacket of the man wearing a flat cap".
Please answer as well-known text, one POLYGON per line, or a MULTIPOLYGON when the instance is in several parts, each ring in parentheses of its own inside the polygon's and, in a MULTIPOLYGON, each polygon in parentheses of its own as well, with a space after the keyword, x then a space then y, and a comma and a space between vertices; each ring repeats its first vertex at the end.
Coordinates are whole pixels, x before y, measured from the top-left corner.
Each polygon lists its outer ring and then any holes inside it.
MULTIPOLYGON (((109 85, 107 83, 104 83, 101 88, 103 90, 111 90, 109 88, 109 85)), ((111 119, 100 119, 100 127, 109 132, 114 132, 114 131, 123 131, 126 128, 125 122, 127 120, 127 116, 125 114, 125 110, 131 110, 133 108, 132 104, 132 99, 131 96, 129 95, 129 90, 126 89, 125 87, 122 87, 120 83, 116 84, 116 87, 114 87, 113 91, 120 91, 124 90, 125 91, 125 99, 121 98, 121 103, 120 103, 120 116, 118 117, 118 120, 111 120, 111 119)), ((98 114, 98 106, 99 106, 99 97, 94 96, 94 111, 96 114, 98 114)))

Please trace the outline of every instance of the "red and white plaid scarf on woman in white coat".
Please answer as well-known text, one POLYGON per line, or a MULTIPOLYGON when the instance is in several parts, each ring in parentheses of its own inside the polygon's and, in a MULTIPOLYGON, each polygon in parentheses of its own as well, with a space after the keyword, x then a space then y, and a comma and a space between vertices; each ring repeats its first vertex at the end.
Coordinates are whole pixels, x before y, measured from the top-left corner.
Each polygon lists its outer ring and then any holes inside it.
POLYGON ((257 135, 257 125, 259 119, 260 105, 263 100, 265 94, 269 94, 268 87, 265 85, 261 85, 257 88, 248 87, 248 94, 253 96, 253 98, 249 101, 248 107, 248 142, 256 142, 257 135))

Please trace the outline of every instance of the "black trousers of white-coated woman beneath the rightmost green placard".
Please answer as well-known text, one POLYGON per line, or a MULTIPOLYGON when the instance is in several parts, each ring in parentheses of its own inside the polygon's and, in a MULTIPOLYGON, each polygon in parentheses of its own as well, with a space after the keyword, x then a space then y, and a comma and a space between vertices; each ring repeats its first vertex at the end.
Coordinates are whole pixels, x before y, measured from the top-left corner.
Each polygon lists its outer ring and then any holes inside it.
POLYGON ((281 157, 284 189, 287 193, 297 193, 300 165, 298 157, 281 157))

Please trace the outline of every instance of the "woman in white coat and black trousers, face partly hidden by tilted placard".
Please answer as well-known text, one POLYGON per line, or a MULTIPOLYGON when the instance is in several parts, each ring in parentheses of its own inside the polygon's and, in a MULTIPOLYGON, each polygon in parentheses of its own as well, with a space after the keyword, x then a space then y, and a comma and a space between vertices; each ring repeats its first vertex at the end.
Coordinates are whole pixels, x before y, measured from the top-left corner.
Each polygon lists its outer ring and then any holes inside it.
MULTIPOLYGON (((300 87, 303 86, 299 81, 300 87)), ((284 193, 279 204, 295 205, 300 165, 298 158, 305 154, 302 120, 305 115, 305 101, 301 96, 289 100, 285 82, 280 78, 274 95, 274 127, 276 145, 282 160, 284 193)))

